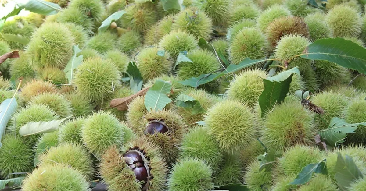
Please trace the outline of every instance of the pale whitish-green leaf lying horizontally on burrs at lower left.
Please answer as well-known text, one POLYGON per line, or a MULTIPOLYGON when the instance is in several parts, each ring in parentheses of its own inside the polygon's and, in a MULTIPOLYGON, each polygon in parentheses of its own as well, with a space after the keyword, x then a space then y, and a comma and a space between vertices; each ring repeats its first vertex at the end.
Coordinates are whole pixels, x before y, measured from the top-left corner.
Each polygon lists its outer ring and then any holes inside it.
POLYGON ((29 136, 46 132, 53 132, 56 131, 61 123, 68 118, 69 117, 52 121, 28 122, 24 126, 20 127, 19 134, 22 136, 29 136))

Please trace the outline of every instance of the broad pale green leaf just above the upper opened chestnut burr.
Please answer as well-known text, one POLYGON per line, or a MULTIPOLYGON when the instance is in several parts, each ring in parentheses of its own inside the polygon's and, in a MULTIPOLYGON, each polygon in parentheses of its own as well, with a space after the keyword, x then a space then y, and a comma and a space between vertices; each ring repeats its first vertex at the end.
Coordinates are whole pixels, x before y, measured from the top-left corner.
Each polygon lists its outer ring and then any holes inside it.
POLYGON ((161 111, 172 100, 167 96, 172 89, 170 82, 161 79, 156 80, 145 95, 145 107, 147 111, 161 111))

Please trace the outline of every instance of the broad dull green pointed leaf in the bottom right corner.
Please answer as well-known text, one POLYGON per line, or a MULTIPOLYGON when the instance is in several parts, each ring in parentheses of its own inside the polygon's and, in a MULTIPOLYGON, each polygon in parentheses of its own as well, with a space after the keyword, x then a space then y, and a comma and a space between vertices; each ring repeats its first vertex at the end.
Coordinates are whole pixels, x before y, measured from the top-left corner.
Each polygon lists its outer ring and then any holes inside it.
POLYGON ((363 178, 361 171, 357 168, 352 158, 346 155, 346 159, 344 159, 340 153, 338 153, 334 172, 336 173, 334 177, 341 190, 348 190, 353 181, 363 178))

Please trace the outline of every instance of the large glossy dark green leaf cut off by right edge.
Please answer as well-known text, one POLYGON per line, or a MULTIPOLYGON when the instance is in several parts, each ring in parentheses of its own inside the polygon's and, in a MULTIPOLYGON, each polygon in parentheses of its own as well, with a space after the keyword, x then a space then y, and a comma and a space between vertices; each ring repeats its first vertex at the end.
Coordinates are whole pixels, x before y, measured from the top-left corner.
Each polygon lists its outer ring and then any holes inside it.
POLYGON ((311 60, 328 60, 366 74, 366 49, 343 38, 316 40, 299 56, 311 60))

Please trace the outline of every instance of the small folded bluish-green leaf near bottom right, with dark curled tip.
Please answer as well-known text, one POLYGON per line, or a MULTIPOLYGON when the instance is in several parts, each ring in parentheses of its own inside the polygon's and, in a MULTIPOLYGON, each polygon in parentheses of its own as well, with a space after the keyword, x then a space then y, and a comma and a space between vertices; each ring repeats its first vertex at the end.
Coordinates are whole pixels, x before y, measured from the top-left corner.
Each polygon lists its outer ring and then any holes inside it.
POLYGON ((326 169, 325 158, 318 163, 311 163, 306 165, 296 176, 295 180, 292 181, 290 184, 296 184, 296 185, 306 184, 310 181, 311 177, 313 177, 313 173, 321 173, 323 175, 328 174, 328 170, 326 169))

